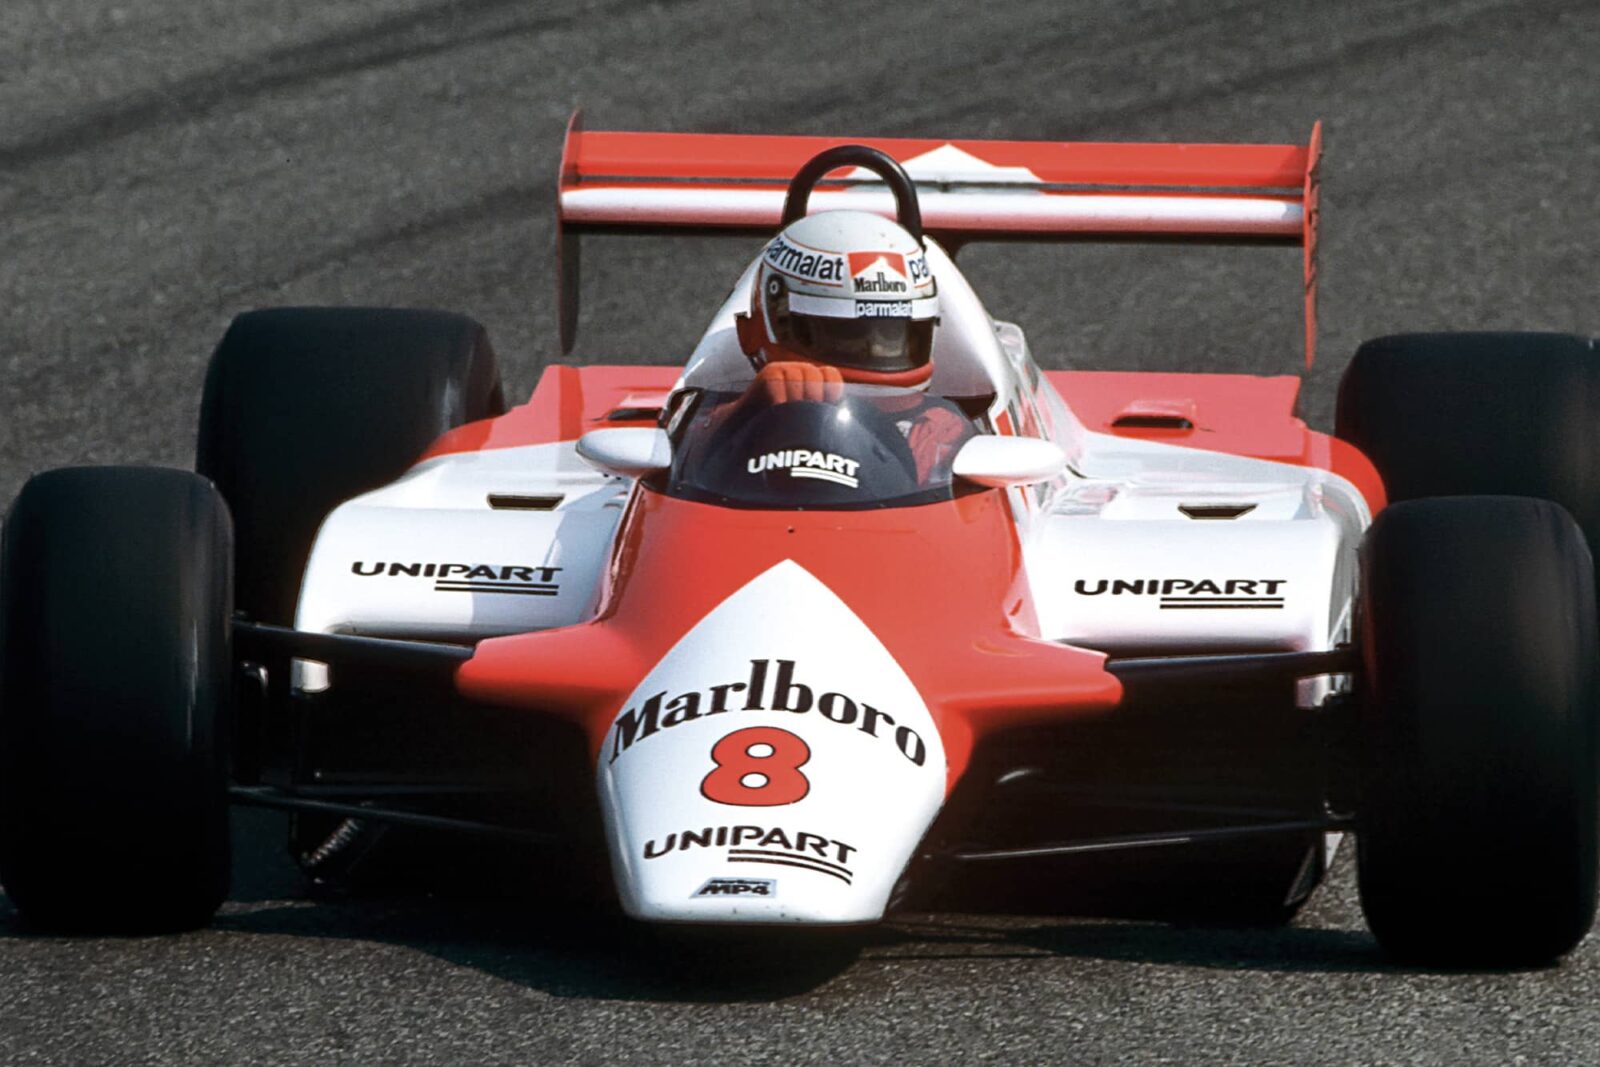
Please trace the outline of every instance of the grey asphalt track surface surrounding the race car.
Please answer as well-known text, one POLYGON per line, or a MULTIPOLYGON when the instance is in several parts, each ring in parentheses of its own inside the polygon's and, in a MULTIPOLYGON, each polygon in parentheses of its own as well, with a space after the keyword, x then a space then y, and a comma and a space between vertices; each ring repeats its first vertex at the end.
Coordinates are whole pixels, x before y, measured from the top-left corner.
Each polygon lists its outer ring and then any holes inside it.
MULTIPOLYGON (((555 355, 574 102, 594 128, 1042 139, 1294 141, 1325 118, 1306 410, 1326 426, 1365 336, 1600 331, 1597 53, 1592 0, 6 0, 0 491, 61 464, 187 466, 206 355, 258 306, 466 310, 526 394, 555 355)), ((750 251, 590 243, 571 358, 680 360, 750 251)), ((1046 365, 1299 360, 1290 251, 963 264, 1046 365)), ((603 912, 309 901, 280 822, 240 829, 208 931, 54 939, 0 904, 0 1061, 1600 1059, 1600 939, 1550 969, 1395 969, 1349 856, 1282 931, 917 917, 763 973, 603 912)))

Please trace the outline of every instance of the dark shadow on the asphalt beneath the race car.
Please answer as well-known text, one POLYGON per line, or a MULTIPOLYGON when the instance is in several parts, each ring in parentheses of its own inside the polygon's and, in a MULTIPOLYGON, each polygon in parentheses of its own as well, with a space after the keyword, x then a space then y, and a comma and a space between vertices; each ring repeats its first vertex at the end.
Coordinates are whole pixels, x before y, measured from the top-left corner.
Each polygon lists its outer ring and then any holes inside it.
MULTIPOLYGON (((1406 973, 1389 963, 1342 904, 1299 926, 1227 928, 1040 915, 906 915, 846 931, 651 928, 571 893, 474 875, 469 888, 306 897, 282 856, 282 829, 240 829, 235 891, 213 929, 235 936, 400 945, 554 997, 739 1003, 814 993, 846 973, 987 960, 1090 960, 1261 973, 1406 973), (1326 925, 1331 918, 1331 926, 1326 925)), ((1349 886, 1328 886, 1336 899, 1349 886)), ((1325 889, 1325 891, 1328 891, 1325 889)), ((1318 913, 1322 912, 1322 913, 1318 913)), ((206 937, 206 934, 197 934, 206 937)), ((0 939, 48 941, 0 896, 0 939)), ((82 947, 93 939, 72 939, 82 947)), ((117 941, 106 939, 115 952, 117 941)), ((205 952, 219 952, 210 944, 205 952)))

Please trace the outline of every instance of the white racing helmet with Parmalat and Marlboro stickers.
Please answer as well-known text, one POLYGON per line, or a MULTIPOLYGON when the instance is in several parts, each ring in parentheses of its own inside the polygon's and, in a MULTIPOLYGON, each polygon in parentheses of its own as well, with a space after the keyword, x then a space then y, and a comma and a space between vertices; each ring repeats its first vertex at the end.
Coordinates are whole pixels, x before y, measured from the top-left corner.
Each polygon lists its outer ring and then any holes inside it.
POLYGON ((821 211, 786 226, 762 251, 739 342, 757 368, 805 360, 845 381, 925 384, 939 322, 928 256, 898 222, 821 211))

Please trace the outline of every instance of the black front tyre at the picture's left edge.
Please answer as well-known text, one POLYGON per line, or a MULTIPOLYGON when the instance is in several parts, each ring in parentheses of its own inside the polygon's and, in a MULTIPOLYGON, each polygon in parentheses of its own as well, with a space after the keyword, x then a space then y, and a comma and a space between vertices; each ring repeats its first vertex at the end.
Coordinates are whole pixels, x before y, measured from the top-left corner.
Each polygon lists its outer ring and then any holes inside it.
POLYGON ((11 506, 0 883, 27 921, 181 929, 226 897, 230 563, 186 470, 53 470, 11 506))

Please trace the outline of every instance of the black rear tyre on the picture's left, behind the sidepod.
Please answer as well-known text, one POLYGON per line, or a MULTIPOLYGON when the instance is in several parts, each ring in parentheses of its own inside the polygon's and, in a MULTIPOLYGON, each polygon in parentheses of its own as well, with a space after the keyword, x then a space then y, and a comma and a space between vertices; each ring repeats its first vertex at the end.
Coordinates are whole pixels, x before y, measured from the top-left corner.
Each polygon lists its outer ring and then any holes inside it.
POLYGON ((206 371, 195 469, 234 514, 238 609, 290 625, 322 520, 446 430, 502 414, 472 318, 381 307, 238 315, 206 371))

